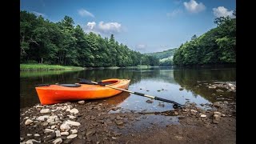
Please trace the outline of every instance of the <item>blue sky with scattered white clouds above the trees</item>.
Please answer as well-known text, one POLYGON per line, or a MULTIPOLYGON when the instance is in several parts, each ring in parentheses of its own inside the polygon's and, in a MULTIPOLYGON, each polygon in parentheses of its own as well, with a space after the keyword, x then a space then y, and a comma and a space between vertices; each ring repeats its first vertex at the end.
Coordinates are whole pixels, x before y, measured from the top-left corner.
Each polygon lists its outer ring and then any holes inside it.
POLYGON ((65 15, 83 30, 114 38, 141 53, 180 46, 231 15, 235 0, 21 0, 20 10, 59 22, 65 15))

